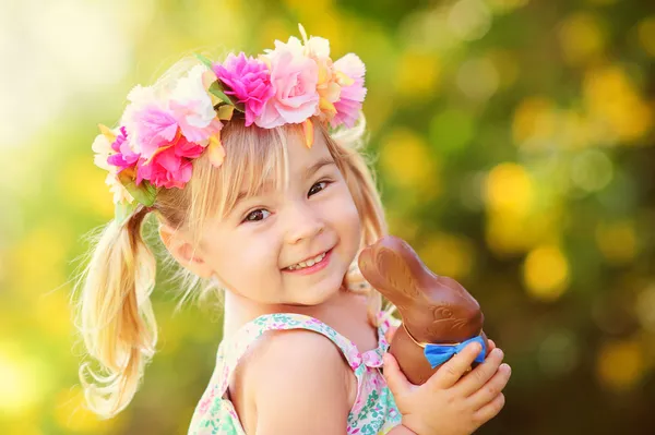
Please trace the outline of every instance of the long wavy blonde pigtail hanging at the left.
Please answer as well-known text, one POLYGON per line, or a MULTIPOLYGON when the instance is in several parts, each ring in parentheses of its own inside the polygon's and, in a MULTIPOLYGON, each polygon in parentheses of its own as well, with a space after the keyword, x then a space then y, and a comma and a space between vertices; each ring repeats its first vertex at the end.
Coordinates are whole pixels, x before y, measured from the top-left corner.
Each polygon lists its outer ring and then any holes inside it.
POLYGON ((157 342, 150 301, 156 259, 142 237, 146 215, 142 207, 122 226, 109 222, 79 282, 78 328, 88 354, 100 364, 98 373, 83 363, 80 380, 90 409, 105 418, 132 400, 157 342))

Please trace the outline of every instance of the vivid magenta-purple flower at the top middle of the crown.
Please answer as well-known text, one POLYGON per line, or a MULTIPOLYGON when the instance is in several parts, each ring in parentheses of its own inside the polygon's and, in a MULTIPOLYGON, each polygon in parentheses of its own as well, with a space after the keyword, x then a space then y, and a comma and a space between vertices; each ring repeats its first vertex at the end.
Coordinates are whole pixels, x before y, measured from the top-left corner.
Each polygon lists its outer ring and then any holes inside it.
POLYGON ((233 95, 246 106, 246 126, 251 125, 273 96, 271 72, 261 60, 230 53, 223 64, 214 64, 216 76, 228 87, 225 94, 233 95))

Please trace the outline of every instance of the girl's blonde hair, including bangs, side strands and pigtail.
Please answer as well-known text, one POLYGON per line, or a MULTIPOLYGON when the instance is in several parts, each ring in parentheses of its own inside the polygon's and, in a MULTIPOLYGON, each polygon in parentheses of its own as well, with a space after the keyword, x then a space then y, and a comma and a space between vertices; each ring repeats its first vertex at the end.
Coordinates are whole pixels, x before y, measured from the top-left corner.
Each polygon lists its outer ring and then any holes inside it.
MULTIPOLYGON (((180 70, 179 64, 171 70, 180 70)), ((183 71, 183 69, 181 69, 183 71)), ((162 82, 163 83, 163 82, 162 82)), ((362 223, 360 249, 386 233, 386 223, 368 162, 360 148, 365 144, 364 116, 353 129, 330 135, 326 126, 312 120, 317 134, 322 134, 327 149, 344 176, 362 223)), ((193 160, 193 174, 184 189, 163 189, 154 210, 159 222, 189 231, 194 245, 200 242, 204 222, 224 216, 236 202, 243 182, 251 192, 269 177, 282 182, 286 177, 286 138, 302 134, 299 125, 276 129, 245 126, 233 119, 222 131, 226 158, 215 169, 205 155, 193 160)), ((123 410, 133 398, 145 365, 155 353, 157 327, 151 292, 155 286, 156 258, 143 237, 147 208, 140 206, 123 226, 109 222, 93 240, 91 259, 78 280, 80 329, 88 354, 97 360, 105 375, 94 373, 88 363, 80 367, 80 379, 92 411, 110 418, 123 410), (88 371, 94 382, 86 379, 88 371)), ((179 266, 167 255, 167 265, 179 266)), ((182 267, 176 277, 186 289, 182 302, 190 295, 203 297, 217 291, 212 281, 201 279, 182 267), (198 287, 200 291, 194 291, 198 287)), ((368 294, 368 318, 378 325, 381 295, 366 285, 357 267, 352 267, 344 283, 353 291, 368 294)))

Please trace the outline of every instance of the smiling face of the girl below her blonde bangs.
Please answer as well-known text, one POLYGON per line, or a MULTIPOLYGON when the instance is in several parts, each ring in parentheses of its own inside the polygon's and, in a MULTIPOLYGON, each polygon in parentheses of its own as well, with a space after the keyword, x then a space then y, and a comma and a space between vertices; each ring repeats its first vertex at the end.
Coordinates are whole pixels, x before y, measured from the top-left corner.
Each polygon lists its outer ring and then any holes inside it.
POLYGON ((317 305, 338 291, 360 219, 323 135, 309 149, 293 135, 287 147, 288 185, 241 198, 210 222, 200 252, 207 273, 253 302, 317 305))

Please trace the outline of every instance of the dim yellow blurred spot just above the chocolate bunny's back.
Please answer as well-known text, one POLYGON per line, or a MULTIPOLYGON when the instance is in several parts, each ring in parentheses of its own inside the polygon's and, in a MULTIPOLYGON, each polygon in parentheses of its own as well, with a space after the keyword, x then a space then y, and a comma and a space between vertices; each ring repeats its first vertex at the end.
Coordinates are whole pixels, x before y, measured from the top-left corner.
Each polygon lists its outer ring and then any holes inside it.
POLYGON ((432 234, 418 254, 430 270, 454 279, 466 278, 473 267, 473 244, 455 234, 432 234))

